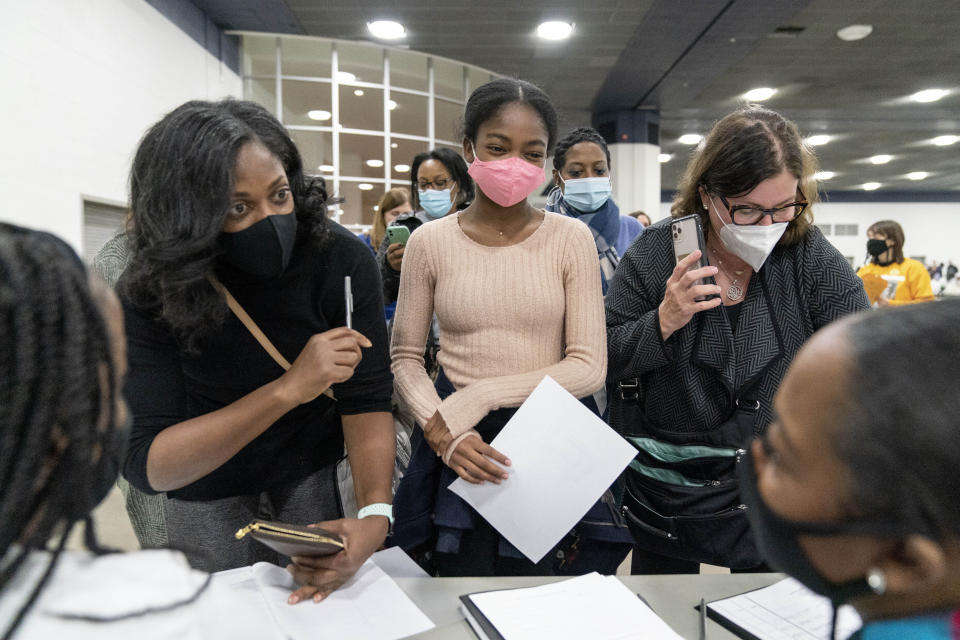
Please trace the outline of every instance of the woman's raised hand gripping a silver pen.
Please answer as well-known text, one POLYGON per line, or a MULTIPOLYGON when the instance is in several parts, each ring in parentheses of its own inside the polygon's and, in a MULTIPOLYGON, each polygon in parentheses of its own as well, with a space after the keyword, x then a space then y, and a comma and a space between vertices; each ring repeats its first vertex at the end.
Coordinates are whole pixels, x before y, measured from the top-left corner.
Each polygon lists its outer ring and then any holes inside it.
POLYGON ((360 332, 337 327, 313 335, 280 383, 298 405, 314 400, 338 382, 346 382, 373 344, 360 332))

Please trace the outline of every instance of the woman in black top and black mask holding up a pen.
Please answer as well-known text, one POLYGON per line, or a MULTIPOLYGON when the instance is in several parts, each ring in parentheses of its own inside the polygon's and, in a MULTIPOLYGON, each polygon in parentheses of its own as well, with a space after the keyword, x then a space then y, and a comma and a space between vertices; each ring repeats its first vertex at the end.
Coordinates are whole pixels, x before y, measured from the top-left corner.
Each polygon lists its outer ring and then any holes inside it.
POLYGON ((323 180, 304 175, 283 126, 252 102, 172 111, 141 142, 130 191, 124 475, 166 494, 169 544, 210 571, 286 562, 234 539, 253 519, 326 521, 345 550, 291 567, 305 585, 291 602, 322 599, 381 546, 392 517, 393 381, 373 256, 327 220, 323 180), (277 357, 228 310, 228 293, 277 357), (344 445, 370 507, 360 519, 341 519, 344 445))

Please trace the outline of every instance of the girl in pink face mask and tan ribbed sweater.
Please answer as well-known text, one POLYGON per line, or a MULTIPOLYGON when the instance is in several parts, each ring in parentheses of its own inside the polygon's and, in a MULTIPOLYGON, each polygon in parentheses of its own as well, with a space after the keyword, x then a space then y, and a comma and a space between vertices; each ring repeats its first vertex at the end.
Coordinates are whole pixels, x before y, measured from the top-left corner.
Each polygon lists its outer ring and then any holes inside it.
POLYGON ((509 459, 487 443, 545 375, 585 397, 606 374, 593 238, 578 221, 527 203, 545 181, 556 137, 556 112, 535 86, 498 79, 479 87, 463 141, 476 200, 424 225, 406 248, 392 368, 423 430, 397 491, 394 542, 408 550, 427 543, 440 575, 548 571, 549 555, 539 566, 523 559, 446 487, 457 476, 506 480, 509 459), (423 366, 434 313, 436 384, 423 366))

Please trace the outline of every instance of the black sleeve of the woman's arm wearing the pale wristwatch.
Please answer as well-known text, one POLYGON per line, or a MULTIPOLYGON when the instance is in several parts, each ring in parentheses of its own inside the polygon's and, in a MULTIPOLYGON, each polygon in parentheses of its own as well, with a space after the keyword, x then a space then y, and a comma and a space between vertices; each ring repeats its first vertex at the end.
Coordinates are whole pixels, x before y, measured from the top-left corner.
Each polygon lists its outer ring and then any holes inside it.
POLYGON ((353 377, 333 386, 337 408, 340 415, 390 411, 393 374, 390 373, 390 345, 377 264, 365 246, 343 244, 350 253, 348 264, 352 264, 351 271, 345 275, 350 275, 353 287, 353 328, 365 335, 373 346, 363 350, 363 359, 353 377))

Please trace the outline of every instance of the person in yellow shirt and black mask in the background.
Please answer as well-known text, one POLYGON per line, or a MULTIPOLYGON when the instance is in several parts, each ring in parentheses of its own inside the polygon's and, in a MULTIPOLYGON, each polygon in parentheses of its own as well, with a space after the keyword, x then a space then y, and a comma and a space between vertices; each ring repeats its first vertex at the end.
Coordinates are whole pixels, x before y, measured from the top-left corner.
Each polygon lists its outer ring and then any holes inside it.
POLYGON ((857 275, 863 279, 870 302, 878 307, 912 304, 933 300, 930 274, 926 267, 903 255, 903 228, 893 220, 874 222, 867 229, 867 253, 870 262, 860 267, 857 275), (899 276, 884 279, 883 276, 899 276), (891 296, 890 289, 895 293, 891 296))

